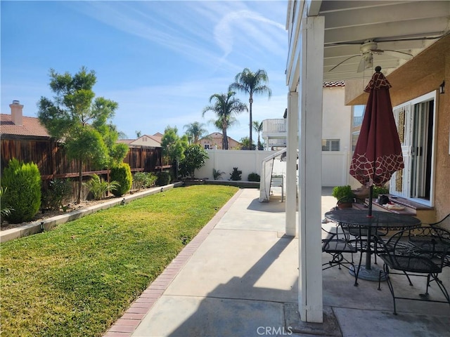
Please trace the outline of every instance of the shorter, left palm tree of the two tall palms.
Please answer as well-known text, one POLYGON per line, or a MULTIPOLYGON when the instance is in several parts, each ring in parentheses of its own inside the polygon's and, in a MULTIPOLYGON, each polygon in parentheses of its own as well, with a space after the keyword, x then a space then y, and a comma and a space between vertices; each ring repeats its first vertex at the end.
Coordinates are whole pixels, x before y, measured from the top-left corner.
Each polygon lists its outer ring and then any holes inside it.
POLYGON ((210 97, 210 103, 214 100, 214 105, 207 105, 203 109, 202 116, 205 113, 212 111, 217 116, 217 121, 214 121, 214 125, 222 130, 222 149, 228 150, 228 136, 226 135, 226 129, 229 126, 236 123, 235 115, 240 114, 243 111, 248 111, 247 105, 240 102, 239 98, 235 98, 236 93, 229 91, 228 93, 214 93, 210 97))

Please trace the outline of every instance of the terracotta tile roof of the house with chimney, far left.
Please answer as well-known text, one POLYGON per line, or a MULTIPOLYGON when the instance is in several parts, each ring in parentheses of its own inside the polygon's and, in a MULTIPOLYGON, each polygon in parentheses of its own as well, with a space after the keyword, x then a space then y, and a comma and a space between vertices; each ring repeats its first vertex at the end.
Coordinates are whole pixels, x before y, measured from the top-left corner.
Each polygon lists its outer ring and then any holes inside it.
POLYGON ((47 129, 39 122, 37 117, 23 117, 23 125, 15 125, 11 114, 0 114, 0 134, 15 136, 50 137, 47 129))

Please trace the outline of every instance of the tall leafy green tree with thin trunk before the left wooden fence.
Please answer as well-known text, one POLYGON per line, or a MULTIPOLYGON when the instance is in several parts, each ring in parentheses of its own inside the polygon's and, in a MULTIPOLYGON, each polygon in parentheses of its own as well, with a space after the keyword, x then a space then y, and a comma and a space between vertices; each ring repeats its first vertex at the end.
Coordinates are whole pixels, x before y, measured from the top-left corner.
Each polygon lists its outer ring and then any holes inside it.
POLYGON ((96 74, 88 72, 86 67, 73 76, 51 69, 50 79, 55 96, 53 100, 41 97, 38 117, 50 135, 64 144, 68 158, 77 162, 79 204, 83 164, 89 161, 98 167, 110 167, 123 160, 127 153, 126 145, 115 144, 120 133, 113 124, 108 124, 118 105, 113 100, 95 98, 92 88, 97 81, 96 74))

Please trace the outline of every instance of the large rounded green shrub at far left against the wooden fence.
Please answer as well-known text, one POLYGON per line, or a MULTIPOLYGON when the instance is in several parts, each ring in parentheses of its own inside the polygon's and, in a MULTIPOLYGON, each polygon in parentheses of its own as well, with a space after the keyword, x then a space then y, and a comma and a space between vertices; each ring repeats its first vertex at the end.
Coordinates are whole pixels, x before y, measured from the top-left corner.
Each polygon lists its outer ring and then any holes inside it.
POLYGON ((3 201, 13 208, 6 220, 10 223, 32 220, 41 207, 41 174, 37 165, 11 159, 4 169, 1 186, 8 189, 3 201))

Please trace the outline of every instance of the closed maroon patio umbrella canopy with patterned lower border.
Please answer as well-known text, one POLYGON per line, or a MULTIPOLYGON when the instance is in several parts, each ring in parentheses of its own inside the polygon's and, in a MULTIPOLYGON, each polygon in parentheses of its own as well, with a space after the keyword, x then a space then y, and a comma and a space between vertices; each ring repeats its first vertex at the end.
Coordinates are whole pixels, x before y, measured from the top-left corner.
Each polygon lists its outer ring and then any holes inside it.
POLYGON ((349 173, 361 184, 382 186, 392 173, 404 168, 397 126, 389 94, 389 81, 375 67, 368 92, 366 112, 349 173))

